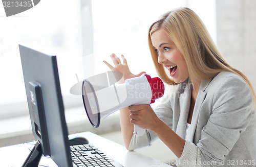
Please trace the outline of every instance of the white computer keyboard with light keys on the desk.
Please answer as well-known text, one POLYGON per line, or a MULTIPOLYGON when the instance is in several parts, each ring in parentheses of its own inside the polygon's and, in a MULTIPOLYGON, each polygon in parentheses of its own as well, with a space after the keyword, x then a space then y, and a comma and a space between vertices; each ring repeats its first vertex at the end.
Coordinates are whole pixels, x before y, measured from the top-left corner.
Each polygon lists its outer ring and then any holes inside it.
POLYGON ((93 145, 70 146, 73 166, 123 167, 119 162, 103 154, 93 145))

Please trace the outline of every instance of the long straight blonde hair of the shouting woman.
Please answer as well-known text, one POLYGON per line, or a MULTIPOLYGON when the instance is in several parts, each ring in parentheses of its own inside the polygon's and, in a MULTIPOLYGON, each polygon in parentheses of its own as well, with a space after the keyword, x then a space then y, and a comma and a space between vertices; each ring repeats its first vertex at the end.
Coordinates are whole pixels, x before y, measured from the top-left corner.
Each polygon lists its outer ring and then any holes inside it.
POLYGON ((158 54, 152 45, 151 35, 163 30, 173 40, 183 55, 189 78, 194 80, 210 79, 221 71, 230 71, 242 77, 249 85, 256 104, 256 94, 247 77, 241 71, 231 67, 222 57, 214 41, 212 41, 204 23, 189 8, 178 8, 167 12, 155 21, 148 31, 148 45, 159 77, 169 85, 176 85, 163 65, 158 63, 158 54))

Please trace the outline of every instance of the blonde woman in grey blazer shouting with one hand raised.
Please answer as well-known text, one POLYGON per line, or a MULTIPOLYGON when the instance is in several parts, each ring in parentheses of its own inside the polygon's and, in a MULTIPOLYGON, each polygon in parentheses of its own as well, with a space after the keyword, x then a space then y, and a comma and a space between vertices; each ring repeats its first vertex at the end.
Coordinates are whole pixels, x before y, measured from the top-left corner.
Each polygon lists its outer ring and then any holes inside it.
MULTIPOLYGON (((158 75, 176 85, 155 110, 123 108, 120 120, 127 149, 150 146, 159 137, 178 166, 255 166, 256 96, 248 79, 223 59, 201 19, 188 8, 162 15, 148 32, 158 75), (133 135, 134 126, 145 130, 133 135)), ((125 58, 112 54, 124 79, 133 78, 125 58)))

